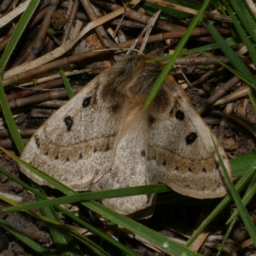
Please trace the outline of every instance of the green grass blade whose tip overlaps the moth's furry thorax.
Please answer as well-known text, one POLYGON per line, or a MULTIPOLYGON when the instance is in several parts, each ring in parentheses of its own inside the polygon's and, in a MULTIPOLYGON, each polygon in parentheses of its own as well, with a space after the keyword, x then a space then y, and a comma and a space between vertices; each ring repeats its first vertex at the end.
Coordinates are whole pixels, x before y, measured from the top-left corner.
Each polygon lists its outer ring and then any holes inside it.
POLYGON ((144 104, 144 108, 148 108, 150 103, 154 100, 154 97, 156 96, 157 92, 160 90, 160 86, 164 83, 166 76, 170 73, 174 62, 177 59, 177 56, 183 50, 183 47, 189 40, 191 32, 194 30, 195 26, 197 26, 199 20, 201 20, 201 17, 203 15, 203 13, 205 12, 205 10, 207 9, 207 6, 209 3, 210 3, 210 0, 206 0, 201 5, 201 9, 199 10, 198 14, 192 20, 191 24, 189 25, 189 27, 187 29, 187 32, 185 33, 183 38, 177 44, 177 47, 176 47, 173 55, 170 57, 170 60, 167 62, 166 66, 163 68, 163 71, 160 73, 160 76, 158 77, 158 79, 156 79, 154 86, 153 86, 152 90, 150 91, 148 98, 144 104))

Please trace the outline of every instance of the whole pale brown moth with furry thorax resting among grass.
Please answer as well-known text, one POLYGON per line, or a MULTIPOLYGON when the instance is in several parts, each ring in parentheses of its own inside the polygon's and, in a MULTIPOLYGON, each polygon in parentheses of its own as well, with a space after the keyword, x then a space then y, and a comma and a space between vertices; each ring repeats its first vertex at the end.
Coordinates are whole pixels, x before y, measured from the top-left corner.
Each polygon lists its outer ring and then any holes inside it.
MULTIPOLYGON (((172 76, 143 110, 162 69, 146 61, 131 56, 98 75, 38 129, 21 159, 75 190, 166 183, 196 198, 224 196, 227 187, 209 128, 172 76)), ((231 177, 219 144, 218 151, 231 177)), ((154 199, 137 195, 102 202, 128 215, 152 208, 154 199)))

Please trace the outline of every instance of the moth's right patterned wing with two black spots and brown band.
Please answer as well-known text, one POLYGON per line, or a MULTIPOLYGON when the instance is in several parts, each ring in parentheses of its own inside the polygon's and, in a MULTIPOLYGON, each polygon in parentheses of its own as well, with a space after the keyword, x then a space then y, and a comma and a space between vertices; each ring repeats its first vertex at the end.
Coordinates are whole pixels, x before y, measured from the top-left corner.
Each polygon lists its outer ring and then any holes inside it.
MULTIPOLYGON (((168 107, 162 114, 151 111, 148 125, 148 173, 153 183, 195 198, 214 198, 227 193, 210 130, 179 85, 166 80, 168 107)), ((214 136, 213 136, 214 137, 214 136)), ((231 177, 230 162, 218 144, 218 152, 231 177)))

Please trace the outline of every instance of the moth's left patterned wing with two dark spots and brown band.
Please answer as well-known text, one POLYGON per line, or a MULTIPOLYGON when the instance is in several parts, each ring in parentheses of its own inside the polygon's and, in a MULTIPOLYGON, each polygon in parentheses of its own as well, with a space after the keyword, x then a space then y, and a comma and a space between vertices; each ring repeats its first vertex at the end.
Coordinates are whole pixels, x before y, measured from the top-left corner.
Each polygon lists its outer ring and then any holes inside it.
MULTIPOLYGON (((104 98, 108 83, 118 74, 112 68, 93 79, 57 110, 32 136, 21 159, 67 186, 83 190, 108 166, 122 106, 104 98)), ((20 166, 39 184, 43 179, 20 166)), ((49 185, 49 184, 47 184, 49 185)))

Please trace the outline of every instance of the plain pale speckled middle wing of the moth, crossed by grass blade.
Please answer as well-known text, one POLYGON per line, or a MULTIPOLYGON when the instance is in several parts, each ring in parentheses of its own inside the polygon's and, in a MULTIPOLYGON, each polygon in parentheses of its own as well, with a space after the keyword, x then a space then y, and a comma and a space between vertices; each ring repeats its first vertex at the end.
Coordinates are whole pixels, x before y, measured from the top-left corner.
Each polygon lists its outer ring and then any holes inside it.
MULTIPOLYGON (((151 184, 148 179, 144 151, 146 131, 147 126, 141 119, 137 119, 129 126, 117 142, 113 164, 109 171, 94 184, 93 190, 121 189, 151 184)), ((102 203, 124 215, 137 212, 136 215, 133 214, 133 218, 148 218, 154 211, 154 200, 155 195, 135 195, 105 199, 102 203)))

